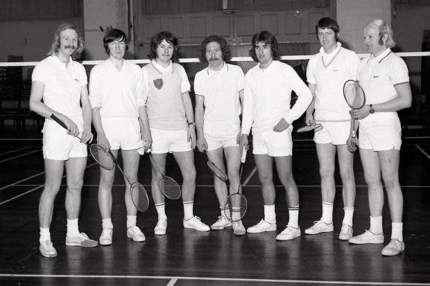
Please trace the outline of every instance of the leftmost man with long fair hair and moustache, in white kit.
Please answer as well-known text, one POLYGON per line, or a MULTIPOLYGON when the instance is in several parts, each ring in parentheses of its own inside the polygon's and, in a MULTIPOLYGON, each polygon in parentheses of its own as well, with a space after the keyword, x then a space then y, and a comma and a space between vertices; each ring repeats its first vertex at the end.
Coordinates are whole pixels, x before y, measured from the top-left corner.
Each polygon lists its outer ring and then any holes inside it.
POLYGON ((35 66, 32 75, 30 109, 46 118, 42 130, 45 186, 39 202, 39 249, 42 256, 49 258, 57 256, 49 226, 65 167, 66 245, 97 246, 96 241, 90 240, 78 229, 80 194, 87 166, 85 143, 91 142, 93 137, 87 74, 84 66, 74 61, 80 57, 83 49, 83 40, 76 26, 61 24, 55 30, 49 57, 35 66), (52 119, 62 121, 67 130, 52 119), (80 136, 81 140, 76 136, 80 136))

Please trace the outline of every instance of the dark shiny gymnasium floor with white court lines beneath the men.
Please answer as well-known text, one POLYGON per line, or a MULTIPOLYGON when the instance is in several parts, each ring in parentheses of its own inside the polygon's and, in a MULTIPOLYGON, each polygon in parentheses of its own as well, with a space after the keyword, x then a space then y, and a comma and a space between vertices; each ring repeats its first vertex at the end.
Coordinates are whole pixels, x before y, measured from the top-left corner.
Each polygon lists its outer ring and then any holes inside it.
MULTIPOLYGON (((277 242, 288 221, 284 190, 277 184, 277 232, 233 235, 231 229, 201 233, 182 227, 182 204, 167 201, 167 233, 155 236, 153 204, 139 213, 146 242, 126 237, 123 179, 114 181, 114 242, 93 249, 65 246, 65 185, 55 202, 51 235, 57 258, 40 255, 37 204, 44 184, 41 141, 0 141, 0 285, 430 285, 430 144, 404 141, 400 182, 404 192, 404 241, 399 256, 381 256, 381 244, 352 245, 338 240, 343 204, 336 177, 334 233, 304 235, 321 212, 318 160, 312 141, 295 142, 293 171, 300 190, 302 236, 277 242)), ((218 216, 212 175, 205 156, 196 152, 198 170, 195 213, 212 224, 218 216)), ((150 184, 148 157, 141 158, 139 181, 150 184)), ((169 156, 168 174, 180 181, 169 156)), ((80 211, 80 230, 98 240, 101 217, 97 205, 98 167, 89 157, 80 211)), ((355 158, 354 233, 369 227, 367 188, 359 154, 355 158)), ((243 170, 243 192, 250 206, 245 226, 261 219, 263 207, 252 156, 243 170)), ((149 190, 149 186, 148 186, 149 190)), ((152 200, 152 199, 151 199, 152 200)), ((390 219, 384 207, 386 243, 390 219)))

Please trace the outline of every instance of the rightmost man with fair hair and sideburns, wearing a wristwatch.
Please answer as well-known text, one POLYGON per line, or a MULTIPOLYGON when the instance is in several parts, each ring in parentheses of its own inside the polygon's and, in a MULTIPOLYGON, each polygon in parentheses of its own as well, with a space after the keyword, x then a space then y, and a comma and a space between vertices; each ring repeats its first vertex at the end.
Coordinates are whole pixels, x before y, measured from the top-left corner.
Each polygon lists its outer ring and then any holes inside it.
MULTIPOLYGON (((386 21, 371 21, 364 29, 364 43, 371 53, 361 61, 359 70, 366 104, 362 109, 350 111, 350 114, 352 118, 359 119, 359 148, 368 184, 370 229, 350 238, 350 242, 384 243, 382 175, 390 207, 392 232, 390 243, 381 253, 395 256, 404 251, 403 195, 399 184, 402 127, 397 111, 411 107, 411 86, 406 64, 390 49, 395 46, 395 42, 393 30, 386 21)), ((355 148, 352 140, 349 140, 348 148, 355 148)))

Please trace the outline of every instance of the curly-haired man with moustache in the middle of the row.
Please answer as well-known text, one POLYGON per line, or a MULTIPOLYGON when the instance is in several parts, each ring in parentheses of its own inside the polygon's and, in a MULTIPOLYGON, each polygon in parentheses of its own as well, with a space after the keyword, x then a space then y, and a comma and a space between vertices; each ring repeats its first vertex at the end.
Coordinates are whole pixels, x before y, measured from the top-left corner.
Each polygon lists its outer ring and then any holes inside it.
MULTIPOLYGON (((197 147, 200 152, 207 150, 210 159, 225 170, 230 181, 230 194, 239 186, 239 166, 241 150, 239 134, 241 129, 241 101, 243 101, 243 71, 239 66, 227 64, 231 59, 230 47, 223 37, 211 35, 200 44, 200 62, 209 66, 196 73, 194 91, 196 93, 197 147)), ((232 226, 234 234, 244 235, 241 220, 233 224, 225 217, 227 184, 214 176, 214 188, 221 215, 211 229, 232 226)))

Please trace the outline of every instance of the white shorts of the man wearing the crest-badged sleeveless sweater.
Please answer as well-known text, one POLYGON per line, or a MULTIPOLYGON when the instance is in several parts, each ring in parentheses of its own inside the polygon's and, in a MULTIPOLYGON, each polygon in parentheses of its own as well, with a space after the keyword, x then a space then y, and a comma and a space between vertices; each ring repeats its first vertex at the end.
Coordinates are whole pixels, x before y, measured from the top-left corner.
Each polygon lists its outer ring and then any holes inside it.
POLYGON ((150 128, 153 137, 151 148, 154 154, 167 152, 186 152, 191 150, 191 142, 187 141, 187 130, 160 130, 150 128))

